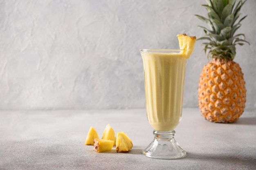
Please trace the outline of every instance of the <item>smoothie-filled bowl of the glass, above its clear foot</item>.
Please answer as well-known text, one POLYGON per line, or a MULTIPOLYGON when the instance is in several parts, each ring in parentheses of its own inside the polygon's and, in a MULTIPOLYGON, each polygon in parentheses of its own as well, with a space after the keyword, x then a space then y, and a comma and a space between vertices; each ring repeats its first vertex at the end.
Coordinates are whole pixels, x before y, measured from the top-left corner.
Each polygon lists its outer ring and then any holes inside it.
POLYGON ((186 58, 181 50, 141 50, 141 56, 148 121, 155 130, 174 130, 182 117, 186 58))

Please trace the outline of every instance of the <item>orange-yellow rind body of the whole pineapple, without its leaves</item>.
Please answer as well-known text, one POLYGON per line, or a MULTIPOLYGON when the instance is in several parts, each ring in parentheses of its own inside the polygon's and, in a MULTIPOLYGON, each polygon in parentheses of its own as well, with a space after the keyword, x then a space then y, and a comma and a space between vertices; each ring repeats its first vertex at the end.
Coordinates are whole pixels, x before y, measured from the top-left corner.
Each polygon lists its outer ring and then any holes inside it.
POLYGON ((200 75, 198 101, 205 119, 221 123, 237 121, 246 102, 245 81, 239 64, 211 60, 205 65, 200 75))

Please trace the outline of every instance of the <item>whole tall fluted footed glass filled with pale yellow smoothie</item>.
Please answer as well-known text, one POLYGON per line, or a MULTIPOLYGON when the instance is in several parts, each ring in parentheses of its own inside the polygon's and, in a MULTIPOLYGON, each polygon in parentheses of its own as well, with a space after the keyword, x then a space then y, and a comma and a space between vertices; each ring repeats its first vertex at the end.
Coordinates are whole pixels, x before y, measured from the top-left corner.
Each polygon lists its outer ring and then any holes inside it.
POLYGON ((175 128, 182 118, 186 58, 182 50, 140 50, 148 122, 153 141, 142 152, 146 157, 178 159, 186 151, 175 141, 175 128))

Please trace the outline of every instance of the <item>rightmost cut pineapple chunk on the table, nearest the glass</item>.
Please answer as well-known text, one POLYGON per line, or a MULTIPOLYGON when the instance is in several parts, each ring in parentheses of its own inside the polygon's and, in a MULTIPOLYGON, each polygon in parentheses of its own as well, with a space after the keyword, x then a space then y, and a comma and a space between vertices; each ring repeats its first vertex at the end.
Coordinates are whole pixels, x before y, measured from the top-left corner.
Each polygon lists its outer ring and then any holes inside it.
POLYGON ((132 149, 131 139, 123 132, 117 132, 116 151, 129 152, 132 149))

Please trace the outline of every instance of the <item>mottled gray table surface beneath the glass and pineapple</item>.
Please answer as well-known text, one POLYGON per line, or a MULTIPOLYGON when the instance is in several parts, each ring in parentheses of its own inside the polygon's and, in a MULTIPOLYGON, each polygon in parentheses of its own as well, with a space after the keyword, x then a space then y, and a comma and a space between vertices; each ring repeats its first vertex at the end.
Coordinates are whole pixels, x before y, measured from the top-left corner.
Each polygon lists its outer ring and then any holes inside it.
POLYGON ((175 129, 187 157, 152 159, 141 151, 153 139, 146 110, 0 111, 0 170, 255 170, 256 111, 233 124, 211 123, 198 109, 183 109, 175 129), (107 124, 132 140, 128 153, 97 153, 84 141, 107 124))

